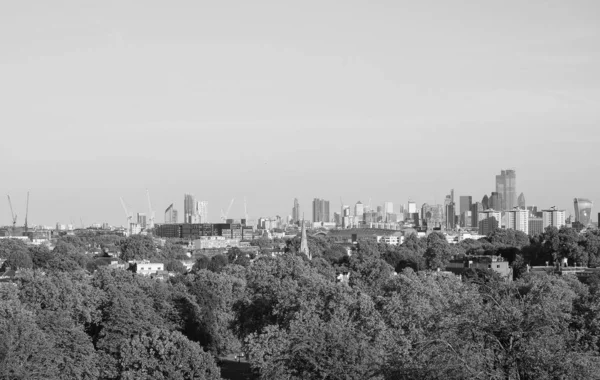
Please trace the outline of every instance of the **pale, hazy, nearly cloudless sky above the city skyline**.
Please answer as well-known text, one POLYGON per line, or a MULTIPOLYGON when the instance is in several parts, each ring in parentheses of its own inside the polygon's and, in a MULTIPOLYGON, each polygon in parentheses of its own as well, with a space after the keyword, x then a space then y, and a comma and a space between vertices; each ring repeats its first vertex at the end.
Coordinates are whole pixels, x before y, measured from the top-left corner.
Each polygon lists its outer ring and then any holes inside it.
POLYGON ((0 46, 18 224, 27 191, 30 225, 122 225, 146 189, 157 222, 186 192, 309 219, 480 200, 504 168, 528 204, 600 211, 597 0, 22 0, 0 46))

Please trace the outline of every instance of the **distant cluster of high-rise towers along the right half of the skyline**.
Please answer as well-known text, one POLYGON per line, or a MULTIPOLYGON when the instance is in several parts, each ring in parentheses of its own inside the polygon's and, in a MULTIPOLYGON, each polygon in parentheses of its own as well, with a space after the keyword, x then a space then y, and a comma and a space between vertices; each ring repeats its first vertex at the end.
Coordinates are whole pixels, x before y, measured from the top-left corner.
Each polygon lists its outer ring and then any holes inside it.
MULTIPOLYGON (((401 230, 415 228, 419 231, 440 230, 448 232, 466 231, 487 235, 496 228, 507 228, 535 235, 548 226, 560 228, 574 222, 583 226, 591 224, 593 202, 575 198, 574 217, 567 218, 565 210, 555 207, 538 210, 527 206, 525 195, 517 195, 517 178, 514 169, 501 170, 495 178, 495 191, 484 195, 480 202, 473 196, 465 195, 455 202, 454 190, 450 190, 443 204, 421 205, 409 200, 407 205, 394 209, 392 202, 381 206, 357 202, 354 207, 340 202, 340 211, 330 217, 329 201, 315 198, 312 201, 312 227, 327 229, 377 228, 401 230)), ((600 214, 599 214, 600 217, 600 214)), ((292 223, 299 224, 304 218, 300 214, 298 199, 294 199, 292 223)))

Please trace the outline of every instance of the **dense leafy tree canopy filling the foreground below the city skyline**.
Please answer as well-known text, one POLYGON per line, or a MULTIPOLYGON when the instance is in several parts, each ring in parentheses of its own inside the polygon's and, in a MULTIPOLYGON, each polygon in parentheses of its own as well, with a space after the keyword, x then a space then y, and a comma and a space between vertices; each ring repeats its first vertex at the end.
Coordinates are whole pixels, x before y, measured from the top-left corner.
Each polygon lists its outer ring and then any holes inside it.
MULTIPOLYGON (((360 241, 351 255, 310 238, 310 261, 294 239, 276 257, 201 256, 168 281, 93 267, 85 252, 96 243, 0 241, 4 266, 21 268, 0 284, 0 379, 218 379, 217 358, 240 351, 264 379, 600 377, 600 277, 525 270, 594 265, 595 231, 497 230, 456 245, 412 235, 400 246, 360 241), (475 254, 505 257, 516 280, 431 270, 475 254)), ((148 237, 110 244, 123 259, 185 256, 148 237)))

